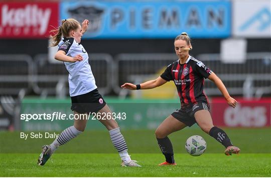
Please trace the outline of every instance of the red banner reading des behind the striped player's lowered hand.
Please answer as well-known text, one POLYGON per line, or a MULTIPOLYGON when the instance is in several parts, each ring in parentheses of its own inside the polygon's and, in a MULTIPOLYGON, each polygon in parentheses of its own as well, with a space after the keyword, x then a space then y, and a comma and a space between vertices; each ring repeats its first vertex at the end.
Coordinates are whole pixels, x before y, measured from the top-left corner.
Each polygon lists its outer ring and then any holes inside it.
POLYGON ((233 108, 222 97, 212 99, 211 115, 214 125, 229 127, 270 126, 271 98, 236 100, 237 106, 233 108))

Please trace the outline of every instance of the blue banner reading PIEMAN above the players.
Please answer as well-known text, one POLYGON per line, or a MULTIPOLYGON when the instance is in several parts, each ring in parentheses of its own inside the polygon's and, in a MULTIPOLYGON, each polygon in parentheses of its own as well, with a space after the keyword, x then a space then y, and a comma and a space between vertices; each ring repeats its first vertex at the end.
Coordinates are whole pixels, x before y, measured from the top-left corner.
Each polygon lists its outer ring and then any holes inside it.
POLYGON ((62 1, 60 17, 90 20, 87 38, 224 38, 231 32, 231 1, 62 1))

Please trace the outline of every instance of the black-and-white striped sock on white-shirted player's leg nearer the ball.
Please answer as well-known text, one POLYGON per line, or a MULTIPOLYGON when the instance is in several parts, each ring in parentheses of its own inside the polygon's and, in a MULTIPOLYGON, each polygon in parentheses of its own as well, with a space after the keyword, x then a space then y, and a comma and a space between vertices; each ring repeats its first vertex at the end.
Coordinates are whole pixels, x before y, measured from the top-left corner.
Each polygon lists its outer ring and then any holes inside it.
POLYGON ((109 134, 111 141, 114 147, 116 148, 117 152, 119 153, 121 160, 125 162, 131 161, 131 158, 128 154, 126 141, 123 135, 121 134, 119 127, 109 130, 109 134))

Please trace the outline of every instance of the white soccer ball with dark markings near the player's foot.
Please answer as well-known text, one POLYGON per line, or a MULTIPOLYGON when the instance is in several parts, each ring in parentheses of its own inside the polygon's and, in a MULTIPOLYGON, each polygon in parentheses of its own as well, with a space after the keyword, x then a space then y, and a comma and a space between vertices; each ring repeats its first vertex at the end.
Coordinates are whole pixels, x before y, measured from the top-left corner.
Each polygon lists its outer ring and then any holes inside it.
POLYGON ((199 135, 190 136, 185 143, 185 149, 192 156, 201 155, 206 147, 206 141, 199 135))

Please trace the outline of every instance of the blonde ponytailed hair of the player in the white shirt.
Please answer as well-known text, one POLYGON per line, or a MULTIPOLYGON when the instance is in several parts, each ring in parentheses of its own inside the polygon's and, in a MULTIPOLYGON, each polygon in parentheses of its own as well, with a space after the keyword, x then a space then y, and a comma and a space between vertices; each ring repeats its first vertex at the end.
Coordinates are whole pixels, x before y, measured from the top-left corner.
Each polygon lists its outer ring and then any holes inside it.
POLYGON ((69 32, 71 30, 76 30, 79 26, 79 21, 74 18, 61 20, 61 25, 58 28, 50 31, 50 33, 54 34, 50 35, 50 39, 52 40, 52 44, 50 46, 56 46, 60 42, 62 36, 69 36, 69 32))

